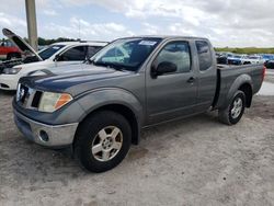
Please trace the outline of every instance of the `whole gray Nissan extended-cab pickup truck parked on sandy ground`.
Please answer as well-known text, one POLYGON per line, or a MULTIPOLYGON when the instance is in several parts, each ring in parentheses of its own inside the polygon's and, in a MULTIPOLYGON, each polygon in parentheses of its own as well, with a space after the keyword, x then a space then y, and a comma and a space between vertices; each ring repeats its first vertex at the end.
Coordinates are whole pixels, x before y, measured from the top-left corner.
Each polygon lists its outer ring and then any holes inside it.
POLYGON ((145 127, 208 110, 237 124, 264 72, 263 65, 217 66, 206 38, 119 38, 87 64, 22 78, 14 121, 32 141, 70 147, 85 169, 103 172, 126 157, 145 127))

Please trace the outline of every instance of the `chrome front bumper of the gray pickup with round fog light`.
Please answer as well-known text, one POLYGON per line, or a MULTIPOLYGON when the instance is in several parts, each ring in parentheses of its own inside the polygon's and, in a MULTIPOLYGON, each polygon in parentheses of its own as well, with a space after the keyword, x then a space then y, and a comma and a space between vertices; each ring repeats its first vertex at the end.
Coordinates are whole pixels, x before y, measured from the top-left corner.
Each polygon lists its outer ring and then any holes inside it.
POLYGON ((14 110, 19 130, 31 141, 49 148, 61 148, 73 142, 78 123, 46 125, 27 118, 14 110))

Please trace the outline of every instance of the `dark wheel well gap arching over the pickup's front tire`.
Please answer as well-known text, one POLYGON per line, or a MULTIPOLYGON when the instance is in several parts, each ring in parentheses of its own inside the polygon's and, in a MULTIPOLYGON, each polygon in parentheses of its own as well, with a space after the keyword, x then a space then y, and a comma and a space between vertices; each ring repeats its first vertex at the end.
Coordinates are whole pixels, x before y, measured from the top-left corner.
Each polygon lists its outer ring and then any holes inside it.
MULTIPOLYGON (((116 113, 123 115, 128 121, 128 123, 132 127, 132 144, 138 145, 138 141, 139 141, 138 122, 137 122, 137 117, 135 116, 134 112, 130 108, 128 108, 127 106, 121 105, 121 104, 109 104, 109 105, 104 105, 104 106, 101 106, 101 107, 92 111, 88 116, 90 116, 99 111, 113 111, 113 112, 116 112, 116 113)), ((85 118, 88 116, 85 116, 85 118)), ((84 121, 84 119, 82 119, 82 121, 84 121)))

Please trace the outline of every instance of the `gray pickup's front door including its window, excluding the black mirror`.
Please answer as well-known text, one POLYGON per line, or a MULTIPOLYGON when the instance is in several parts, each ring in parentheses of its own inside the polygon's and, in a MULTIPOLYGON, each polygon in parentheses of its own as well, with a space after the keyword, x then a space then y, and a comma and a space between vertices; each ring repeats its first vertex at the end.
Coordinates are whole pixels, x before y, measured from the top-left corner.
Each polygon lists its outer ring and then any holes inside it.
POLYGON ((176 71, 158 77, 146 75, 148 124, 169 121, 193 114, 197 81, 193 70, 189 42, 167 43, 152 62, 158 67, 161 62, 172 62, 176 71))

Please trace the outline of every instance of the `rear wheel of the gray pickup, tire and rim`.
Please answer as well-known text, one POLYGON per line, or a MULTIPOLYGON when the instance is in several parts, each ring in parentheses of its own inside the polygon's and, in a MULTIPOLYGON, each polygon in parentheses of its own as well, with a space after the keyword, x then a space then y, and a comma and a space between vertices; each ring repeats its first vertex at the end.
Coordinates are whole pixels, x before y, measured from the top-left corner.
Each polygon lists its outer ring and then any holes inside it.
POLYGON ((246 94, 238 90, 227 108, 219 111, 219 122, 227 125, 235 125, 241 119, 246 108, 246 94), (237 105, 237 106, 236 106, 237 105))

